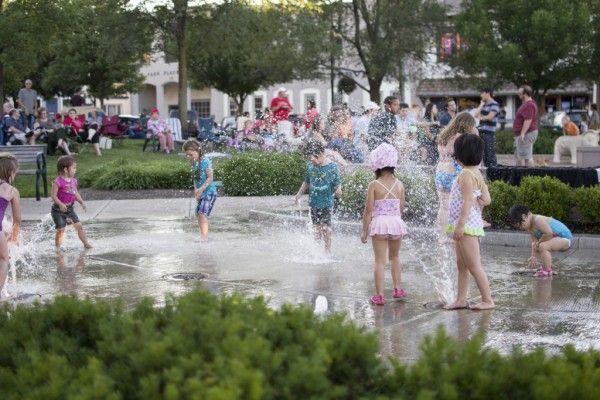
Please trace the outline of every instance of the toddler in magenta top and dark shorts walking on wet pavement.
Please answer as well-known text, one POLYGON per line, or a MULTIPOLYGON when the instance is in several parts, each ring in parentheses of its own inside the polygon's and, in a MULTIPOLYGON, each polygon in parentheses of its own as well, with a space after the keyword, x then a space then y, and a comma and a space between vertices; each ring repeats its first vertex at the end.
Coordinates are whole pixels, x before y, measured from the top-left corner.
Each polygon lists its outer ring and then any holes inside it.
POLYGON ((58 159, 56 169, 58 176, 52 182, 52 208, 50 214, 56 225, 56 236, 54 237, 54 245, 57 249, 60 248, 63 240, 65 239, 65 228, 67 225, 73 225, 77 231, 79 240, 83 243, 83 247, 91 249, 92 245, 87 241, 83 227, 79 222, 79 217, 73 210, 73 205, 78 202, 86 210, 83 199, 77 191, 77 179, 75 179, 75 173, 77 172, 77 163, 72 156, 62 156, 58 159))

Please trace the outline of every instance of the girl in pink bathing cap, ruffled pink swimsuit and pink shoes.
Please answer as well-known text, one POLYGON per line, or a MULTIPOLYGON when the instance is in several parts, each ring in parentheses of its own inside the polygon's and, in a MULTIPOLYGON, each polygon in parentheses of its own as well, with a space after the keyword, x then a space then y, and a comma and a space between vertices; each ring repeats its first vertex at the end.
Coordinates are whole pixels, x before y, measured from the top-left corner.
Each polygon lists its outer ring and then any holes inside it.
POLYGON ((400 288, 400 244, 406 235, 406 224, 402 220, 404 210, 404 185, 394 175, 398 163, 396 148, 388 143, 379 145, 371 152, 369 166, 376 179, 369 183, 367 203, 363 213, 361 240, 367 243, 370 236, 375 253, 375 295, 369 301, 375 305, 385 304, 383 296, 383 267, 386 253, 392 264, 394 291, 392 297, 401 299, 406 292, 400 288))

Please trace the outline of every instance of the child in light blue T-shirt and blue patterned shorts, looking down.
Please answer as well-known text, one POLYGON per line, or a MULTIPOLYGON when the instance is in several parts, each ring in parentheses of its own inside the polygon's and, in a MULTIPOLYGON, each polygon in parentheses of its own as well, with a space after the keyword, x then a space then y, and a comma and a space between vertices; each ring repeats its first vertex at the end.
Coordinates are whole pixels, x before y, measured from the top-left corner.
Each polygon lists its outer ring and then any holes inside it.
POLYGON ((200 230, 200 240, 208 240, 208 217, 217 200, 217 185, 213 181, 212 163, 204 155, 202 146, 194 139, 183 144, 185 156, 192 163, 194 175, 194 197, 196 198, 196 218, 200 230))

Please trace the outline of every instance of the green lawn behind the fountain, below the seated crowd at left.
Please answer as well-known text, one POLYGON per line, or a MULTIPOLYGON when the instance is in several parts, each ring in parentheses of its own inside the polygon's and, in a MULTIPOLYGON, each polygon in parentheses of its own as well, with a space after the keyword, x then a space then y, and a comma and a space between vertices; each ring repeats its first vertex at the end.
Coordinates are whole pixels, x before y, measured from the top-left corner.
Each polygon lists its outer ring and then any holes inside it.
MULTIPOLYGON (((121 144, 113 141, 113 148, 103 150, 102 157, 96 156, 91 145, 85 147, 80 146, 80 154, 75 155, 77 160, 77 174, 96 167, 101 164, 108 164, 112 161, 127 159, 130 161, 153 161, 153 160, 181 160, 187 162, 183 157, 176 155, 181 152, 180 149, 175 150, 175 154, 166 155, 163 153, 146 150, 142 152, 143 140, 139 139, 124 139, 121 144)), ((52 186, 52 181, 56 178, 56 161, 58 156, 46 156, 48 170, 48 194, 52 186)), ((35 197, 35 176, 19 175, 17 176, 15 187, 19 190, 21 197, 35 197)), ((43 191, 43 188, 42 188, 43 191)), ((42 193, 43 194, 43 193, 42 193)))

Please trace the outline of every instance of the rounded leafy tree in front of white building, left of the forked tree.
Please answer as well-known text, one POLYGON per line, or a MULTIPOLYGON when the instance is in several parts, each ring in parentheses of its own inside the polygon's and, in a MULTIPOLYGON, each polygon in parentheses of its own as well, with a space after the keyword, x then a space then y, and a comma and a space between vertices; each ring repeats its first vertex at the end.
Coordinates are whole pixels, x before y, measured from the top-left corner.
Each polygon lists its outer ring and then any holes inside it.
POLYGON ((242 113, 244 101, 260 87, 314 78, 325 57, 323 24, 316 10, 261 6, 245 0, 207 6, 190 33, 201 42, 190 54, 194 85, 214 87, 232 98, 242 113))

